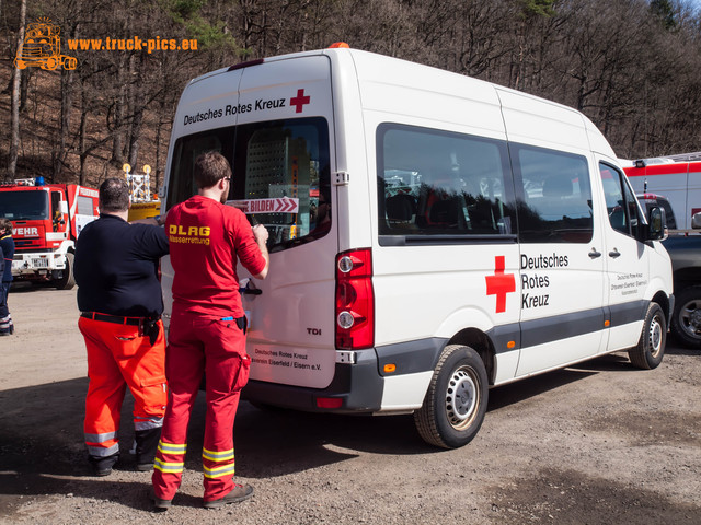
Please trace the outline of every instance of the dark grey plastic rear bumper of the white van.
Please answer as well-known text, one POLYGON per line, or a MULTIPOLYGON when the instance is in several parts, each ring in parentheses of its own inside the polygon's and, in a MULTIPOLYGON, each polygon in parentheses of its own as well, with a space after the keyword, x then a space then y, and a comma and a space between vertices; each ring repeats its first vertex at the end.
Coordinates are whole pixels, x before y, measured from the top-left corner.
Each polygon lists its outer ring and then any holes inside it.
POLYGON ((336 363, 326 388, 306 388, 265 381, 249 381, 243 399, 276 407, 313 412, 375 412, 382 402, 383 380, 378 372, 375 349, 355 351, 355 363, 336 363), (320 408, 319 398, 341 399, 338 408, 320 408))

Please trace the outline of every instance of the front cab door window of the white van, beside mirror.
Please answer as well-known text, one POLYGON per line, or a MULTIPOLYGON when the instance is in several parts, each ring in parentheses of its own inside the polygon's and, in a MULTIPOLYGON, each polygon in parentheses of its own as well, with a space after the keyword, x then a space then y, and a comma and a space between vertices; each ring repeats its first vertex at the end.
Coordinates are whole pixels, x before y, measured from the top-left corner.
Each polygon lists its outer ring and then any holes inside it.
POLYGON ((606 198, 606 209, 613 230, 625 235, 637 237, 642 218, 637 199, 628 184, 625 176, 613 166, 599 163, 601 185, 606 198))

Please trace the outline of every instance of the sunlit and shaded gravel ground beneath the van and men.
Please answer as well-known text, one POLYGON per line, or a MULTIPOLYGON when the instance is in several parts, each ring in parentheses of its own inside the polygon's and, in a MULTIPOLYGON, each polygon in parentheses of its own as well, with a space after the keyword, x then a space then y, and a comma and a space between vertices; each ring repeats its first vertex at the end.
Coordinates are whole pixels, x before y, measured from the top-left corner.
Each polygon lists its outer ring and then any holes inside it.
POLYGON ((130 402, 118 470, 91 476, 76 292, 15 287, 0 339, 0 523, 700 524, 701 354, 670 342, 654 371, 625 354, 490 392, 468 446, 433 448, 411 416, 341 417, 242 402, 238 505, 202 508, 204 399, 173 508, 151 512, 134 470, 130 402))

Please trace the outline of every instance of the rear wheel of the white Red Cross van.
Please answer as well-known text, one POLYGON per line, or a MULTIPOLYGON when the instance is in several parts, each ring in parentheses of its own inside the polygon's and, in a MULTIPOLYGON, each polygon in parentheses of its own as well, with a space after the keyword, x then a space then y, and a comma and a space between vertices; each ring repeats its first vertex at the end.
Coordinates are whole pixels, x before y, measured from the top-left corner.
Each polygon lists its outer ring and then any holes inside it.
POLYGON ((470 347, 449 345, 438 359, 424 404, 414 412, 416 430, 432 445, 467 445, 482 427, 487 398, 489 380, 480 354, 470 347))

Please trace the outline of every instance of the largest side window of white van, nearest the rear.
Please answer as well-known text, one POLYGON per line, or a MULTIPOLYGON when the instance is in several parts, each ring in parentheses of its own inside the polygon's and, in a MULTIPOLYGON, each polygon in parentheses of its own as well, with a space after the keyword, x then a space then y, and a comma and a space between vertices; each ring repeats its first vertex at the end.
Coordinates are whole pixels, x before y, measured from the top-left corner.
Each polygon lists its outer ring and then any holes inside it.
POLYGON ((384 124, 377 151, 380 235, 516 233, 505 142, 384 124))

